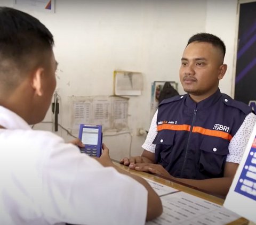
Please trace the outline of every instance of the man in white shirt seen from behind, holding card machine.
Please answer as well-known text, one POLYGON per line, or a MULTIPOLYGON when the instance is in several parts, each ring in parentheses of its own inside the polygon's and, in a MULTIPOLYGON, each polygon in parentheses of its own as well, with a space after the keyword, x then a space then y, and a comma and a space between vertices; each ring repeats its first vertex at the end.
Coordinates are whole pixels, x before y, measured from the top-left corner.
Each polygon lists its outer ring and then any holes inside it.
POLYGON ((0 223, 144 224, 162 213, 158 195, 118 168, 29 124, 44 119, 55 89, 51 32, 0 7, 0 223))

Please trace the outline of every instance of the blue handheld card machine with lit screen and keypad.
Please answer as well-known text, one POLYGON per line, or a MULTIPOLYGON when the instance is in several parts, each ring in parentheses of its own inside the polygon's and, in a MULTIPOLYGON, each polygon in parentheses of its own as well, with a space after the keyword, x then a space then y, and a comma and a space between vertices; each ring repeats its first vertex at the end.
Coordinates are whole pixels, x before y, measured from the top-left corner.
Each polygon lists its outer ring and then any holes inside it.
POLYGON ((85 145, 80 148, 82 153, 100 157, 102 146, 102 126, 94 124, 80 124, 79 139, 85 145))

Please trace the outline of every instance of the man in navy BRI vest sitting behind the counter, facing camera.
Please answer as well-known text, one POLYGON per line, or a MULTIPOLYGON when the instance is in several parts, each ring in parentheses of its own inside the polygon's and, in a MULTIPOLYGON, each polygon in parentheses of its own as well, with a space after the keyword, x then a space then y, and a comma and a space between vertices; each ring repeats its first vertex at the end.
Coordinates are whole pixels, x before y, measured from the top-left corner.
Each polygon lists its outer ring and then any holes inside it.
POLYGON ((180 81, 187 94, 159 104, 141 156, 120 163, 226 195, 256 122, 248 105, 219 90, 226 47, 211 34, 191 37, 180 81))

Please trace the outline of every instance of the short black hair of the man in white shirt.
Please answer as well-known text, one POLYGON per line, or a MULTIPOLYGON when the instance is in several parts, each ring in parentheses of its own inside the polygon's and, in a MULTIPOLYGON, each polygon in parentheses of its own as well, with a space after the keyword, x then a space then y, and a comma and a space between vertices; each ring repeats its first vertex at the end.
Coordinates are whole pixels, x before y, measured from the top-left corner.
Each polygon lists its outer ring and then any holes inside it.
POLYGON ((0 82, 4 87, 13 86, 15 79, 44 61, 45 52, 53 45, 53 35, 38 19, 0 7, 0 82))

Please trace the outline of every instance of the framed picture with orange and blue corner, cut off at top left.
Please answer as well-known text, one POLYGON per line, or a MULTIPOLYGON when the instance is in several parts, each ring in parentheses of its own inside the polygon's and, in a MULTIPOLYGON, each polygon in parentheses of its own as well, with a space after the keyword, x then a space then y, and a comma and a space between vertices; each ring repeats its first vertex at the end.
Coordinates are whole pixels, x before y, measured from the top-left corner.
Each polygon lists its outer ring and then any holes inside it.
POLYGON ((13 7, 54 13, 55 0, 13 0, 13 7))

